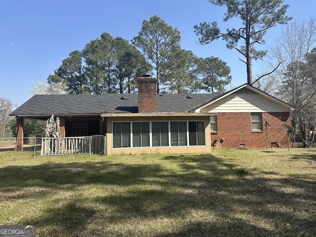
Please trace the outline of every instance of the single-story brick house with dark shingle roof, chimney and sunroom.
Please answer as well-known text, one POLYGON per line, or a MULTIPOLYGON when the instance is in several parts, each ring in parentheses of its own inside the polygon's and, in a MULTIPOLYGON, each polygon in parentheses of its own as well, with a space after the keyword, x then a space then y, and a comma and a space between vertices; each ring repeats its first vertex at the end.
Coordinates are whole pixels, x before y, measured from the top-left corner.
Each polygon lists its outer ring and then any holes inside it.
POLYGON ((53 114, 62 137, 105 135, 106 155, 288 146, 284 124, 295 108, 249 84, 222 94, 157 94, 156 78, 137 83, 138 94, 35 95, 10 114, 17 137, 23 119, 53 114))

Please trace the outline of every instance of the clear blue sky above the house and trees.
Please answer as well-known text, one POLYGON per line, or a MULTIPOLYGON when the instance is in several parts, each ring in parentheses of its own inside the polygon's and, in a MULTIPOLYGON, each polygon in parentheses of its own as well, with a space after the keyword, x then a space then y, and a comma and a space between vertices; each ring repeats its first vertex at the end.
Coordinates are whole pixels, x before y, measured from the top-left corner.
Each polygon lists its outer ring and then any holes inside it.
MULTIPOLYGON (((315 0, 285 0, 287 15, 296 19, 314 16, 315 0)), ((226 8, 208 0, 1 0, 0 3, 0 97, 18 106, 31 97, 30 88, 46 81, 73 50, 81 50, 103 32, 131 40, 138 35, 143 20, 161 17, 181 33, 181 47, 198 57, 218 57, 231 68, 232 85, 247 82, 246 67, 223 40, 199 45, 194 26, 217 21, 220 28, 226 8)), ((267 49, 275 44, 280 27, 270 29, 267 49)), ((253 75, 260 74, 263 61, 253 62, 253 75)))

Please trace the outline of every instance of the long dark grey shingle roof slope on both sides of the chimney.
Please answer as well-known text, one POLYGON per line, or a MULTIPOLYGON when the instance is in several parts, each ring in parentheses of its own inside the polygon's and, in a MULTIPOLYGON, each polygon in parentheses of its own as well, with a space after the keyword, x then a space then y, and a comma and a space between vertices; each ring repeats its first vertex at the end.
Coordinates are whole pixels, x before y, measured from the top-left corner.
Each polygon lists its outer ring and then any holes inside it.
MULTIPOLYGON (((158 113, 189 112, 218 94, 160 94, 157 95, 158 113)), ((35 95, 11 116, 47 117, 70 115, 100 115, 106 113, 138 113, 137 94, 104 95, 35 95), (121 98, 124 99, 121 99, 121 98)))

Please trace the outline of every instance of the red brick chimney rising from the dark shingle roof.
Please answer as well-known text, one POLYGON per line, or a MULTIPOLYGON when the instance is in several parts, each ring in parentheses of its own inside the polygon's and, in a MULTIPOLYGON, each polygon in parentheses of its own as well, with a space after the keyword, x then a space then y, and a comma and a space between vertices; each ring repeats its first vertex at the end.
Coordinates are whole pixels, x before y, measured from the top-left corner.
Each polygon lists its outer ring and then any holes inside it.
POLYGON ((157 112, 157 79, 145 75, 137 78, 138 113, 157 112))

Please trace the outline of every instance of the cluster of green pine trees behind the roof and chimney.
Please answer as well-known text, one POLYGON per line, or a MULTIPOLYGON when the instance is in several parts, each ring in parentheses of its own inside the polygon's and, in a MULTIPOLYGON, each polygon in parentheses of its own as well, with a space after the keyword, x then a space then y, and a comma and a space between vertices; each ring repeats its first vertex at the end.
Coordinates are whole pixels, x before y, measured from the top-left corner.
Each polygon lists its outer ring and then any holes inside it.
POLYGON ((232 79, 226 62, 198 58, 180 40, 177 29, 153 16, 130 41, 103 33, 70 52, 47 81, 64 83, 71 94, 135 93, 135 79, 150 74, 157 93, 223 92, 232 79))

